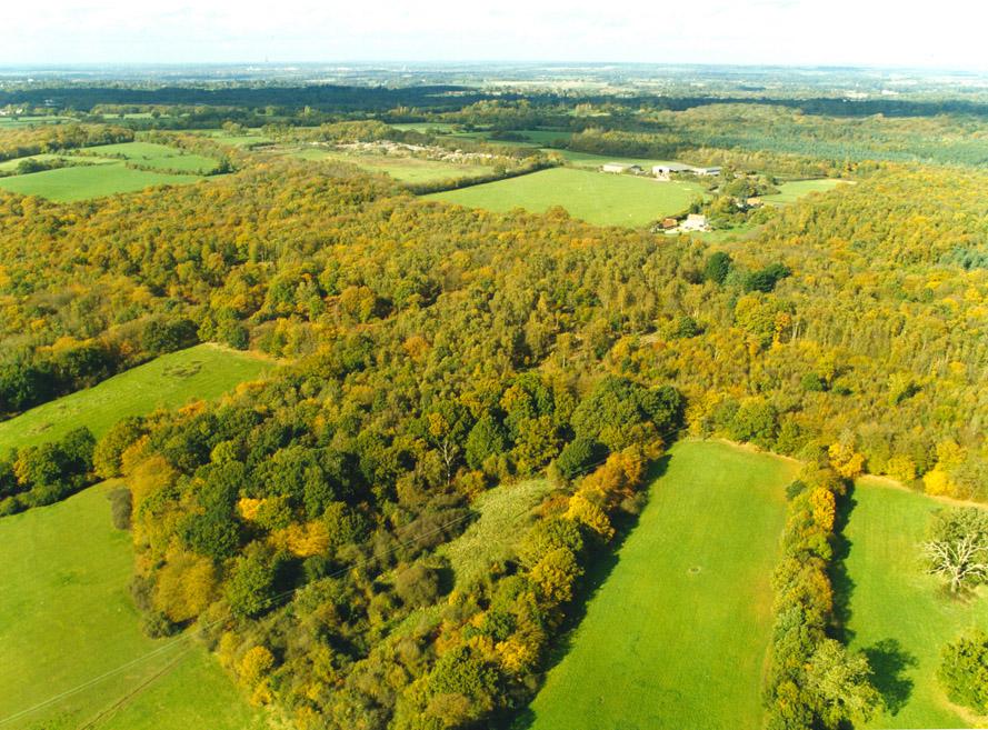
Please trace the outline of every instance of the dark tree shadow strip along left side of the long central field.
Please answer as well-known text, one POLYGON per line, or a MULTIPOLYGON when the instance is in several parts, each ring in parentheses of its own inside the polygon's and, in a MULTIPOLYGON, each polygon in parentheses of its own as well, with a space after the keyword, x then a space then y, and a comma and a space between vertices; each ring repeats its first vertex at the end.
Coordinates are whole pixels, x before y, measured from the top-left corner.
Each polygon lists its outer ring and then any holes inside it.
MULTIPOLYGON (((648 473, 643 479, 643 483, 651 484, 659 477, 666 473, 669 468, 670 456, 668 453, 656 459, 648 469, 648 473)), ((542 666, 541 677, 539 678, 539 689, 541 689, 545 677, 566 658, 570 649, 572 649, 576 639, 576 630, 582 623, 587 616, 587 609, 590 601, 597 592, 610 578, 611 572, 619 562, 618 552, 625 540, 631 534, 631 531, 638 524, 638 518, 648 503, 649 492, 642 491, 641 508, 635 514, 619 513, 613 518, 615 538, 605 549, 598 549, 597 556, 591 558, 586 564, 586 572, 573 592, 573 599, 566 610, 566 619, 559 628, 558 638, 552 642, 546 661, 542 666)), ((536 690, 530 700, 535 699, 538 693, 536 690)), ((500 722, 495 722, 491 727, 498 730, 529 730, 536 720, 535 712, 531 711, 529 702, 513 713, 508 713, 500 722)))

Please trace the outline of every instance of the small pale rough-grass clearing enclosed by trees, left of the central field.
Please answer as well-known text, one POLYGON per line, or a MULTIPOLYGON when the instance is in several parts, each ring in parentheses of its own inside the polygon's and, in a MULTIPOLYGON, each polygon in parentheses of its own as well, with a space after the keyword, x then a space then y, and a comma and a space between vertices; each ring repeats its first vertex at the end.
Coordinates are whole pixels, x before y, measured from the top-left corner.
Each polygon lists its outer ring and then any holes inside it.
POLYGON ((458 587, 485 576, 491 566, 515 554, 530 522, 531 510, 552 491, 545 479, 502 484, 481 494, 472 504, 480 512, 476 522, 445 546, 458 587))

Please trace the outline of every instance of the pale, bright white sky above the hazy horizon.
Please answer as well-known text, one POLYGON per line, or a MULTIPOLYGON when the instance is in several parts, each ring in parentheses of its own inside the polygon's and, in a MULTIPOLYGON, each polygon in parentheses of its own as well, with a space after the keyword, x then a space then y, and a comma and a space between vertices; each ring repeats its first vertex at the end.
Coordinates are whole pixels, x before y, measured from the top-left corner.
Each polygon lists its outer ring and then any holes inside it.
POLYGON ((561 61, 988 70, 982 0, 46 0, 0 64, 561 61))

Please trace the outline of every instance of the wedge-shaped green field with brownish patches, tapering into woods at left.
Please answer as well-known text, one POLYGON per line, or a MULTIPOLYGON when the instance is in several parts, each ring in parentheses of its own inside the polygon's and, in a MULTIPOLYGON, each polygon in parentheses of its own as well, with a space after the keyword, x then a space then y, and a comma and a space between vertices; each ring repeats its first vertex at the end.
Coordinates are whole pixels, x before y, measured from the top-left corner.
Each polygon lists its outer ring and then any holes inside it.
POLYGON ((217 398, 269 368, 271 362, 253 354, 212 344, 171 352, 0 422, 0 450, 52 441, 79 426, 99 437, 127 416, 217 398))

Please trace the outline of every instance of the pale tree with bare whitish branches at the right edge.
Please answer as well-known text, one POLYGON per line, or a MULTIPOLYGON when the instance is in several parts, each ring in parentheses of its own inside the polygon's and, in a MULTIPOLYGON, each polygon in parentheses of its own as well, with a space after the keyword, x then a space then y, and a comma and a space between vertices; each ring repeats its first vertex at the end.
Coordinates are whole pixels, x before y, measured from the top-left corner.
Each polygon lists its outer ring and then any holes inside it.
POLYGON ((947 579, 951 593, 988 579, 988 514, 977 508, 940 512, 922 551, 929 571, 947 579))

